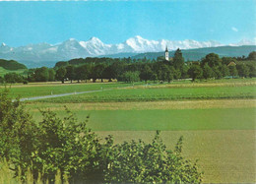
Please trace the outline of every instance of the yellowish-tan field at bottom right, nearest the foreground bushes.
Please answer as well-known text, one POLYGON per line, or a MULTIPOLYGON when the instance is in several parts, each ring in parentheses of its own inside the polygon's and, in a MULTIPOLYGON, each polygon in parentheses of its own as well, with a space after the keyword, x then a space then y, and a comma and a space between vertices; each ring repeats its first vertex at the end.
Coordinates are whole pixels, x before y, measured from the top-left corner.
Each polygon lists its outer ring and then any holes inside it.
MULTIPOLYGON (((242 122, 241 122, 242 123, 242 122)), ((113 135, 115 143, 132 139, 149 143, 154 131, 100 131, 100 137, 113 135)), ((255 183, 256 182, 256 131, 162 131, 168 149, 173 150, 180 136, 184 137, 183 155, 196 160, 204 170, 206 183, 255 183)))

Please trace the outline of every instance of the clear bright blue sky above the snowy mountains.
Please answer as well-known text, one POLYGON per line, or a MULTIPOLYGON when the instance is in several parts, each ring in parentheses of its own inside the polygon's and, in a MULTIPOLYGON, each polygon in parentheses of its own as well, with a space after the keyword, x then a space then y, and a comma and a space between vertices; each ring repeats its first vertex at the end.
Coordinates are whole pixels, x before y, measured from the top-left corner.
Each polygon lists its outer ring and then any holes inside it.
POLYGON ((11 46, 96 36, 105 43, 147 39, 256 37, 256 0, 0 2, 0 42, 11 46))

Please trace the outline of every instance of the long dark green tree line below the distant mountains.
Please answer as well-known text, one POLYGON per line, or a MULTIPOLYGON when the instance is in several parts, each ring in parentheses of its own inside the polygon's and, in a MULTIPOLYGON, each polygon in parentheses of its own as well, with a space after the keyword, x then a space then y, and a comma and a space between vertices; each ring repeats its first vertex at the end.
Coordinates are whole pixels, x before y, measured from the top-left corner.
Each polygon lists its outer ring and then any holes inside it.
POLYGON ((88 81, 96 79, 117 79, 121 82, 133 83, 138 81, 171 82, 173 79, 222 79, 252 78, 256 77, 256 52, 251 52, 248 57, 223 57, 210 53, 201 61, 184 61, 182 52, 177 49, 174 57, 166 61, 164 57, 157 60, 131 59, 131 58, 79 58, 67 62, 57 62, 54 68, 41 67, 30 69, 27 77, 17 74, 7 74, 6 83, 21 81, 27 82, 52 82, 76 80, 88 81))

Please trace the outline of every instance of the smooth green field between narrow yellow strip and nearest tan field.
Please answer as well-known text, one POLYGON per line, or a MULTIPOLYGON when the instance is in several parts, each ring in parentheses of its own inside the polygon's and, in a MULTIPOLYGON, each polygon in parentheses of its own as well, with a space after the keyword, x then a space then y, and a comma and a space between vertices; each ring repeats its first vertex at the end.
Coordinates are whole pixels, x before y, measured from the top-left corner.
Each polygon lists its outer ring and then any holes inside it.
MULTIPOLYGON (((63 109, 54 110, 64 117, 63 109)), ((94 131, 255 130, 255 108, 72 110, 94 131), (242 123, 241 123, 242 122, 242 123)), ((33 117, 40 120, 38 110, 33 117)))

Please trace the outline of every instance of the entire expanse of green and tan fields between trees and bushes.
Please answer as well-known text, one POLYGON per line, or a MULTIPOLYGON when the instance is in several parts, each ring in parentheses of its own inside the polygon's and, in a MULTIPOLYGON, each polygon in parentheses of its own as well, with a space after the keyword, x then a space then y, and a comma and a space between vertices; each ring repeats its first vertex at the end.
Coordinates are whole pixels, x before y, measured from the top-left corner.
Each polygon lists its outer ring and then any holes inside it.
POLYGON ((256 80, 233 79, 171 84, 37 84, 13 86, 12 96, 65 92, 92 92, 27 101, 35 121, 39 109, 65 116, 65 106, 101 138, 113 135, 115 143, 132 139, 150 142, 156 130, 173 149, 184 136, 184 156, 199 159, 203 182, 256 182, 256 80), (105 90, 105 91, 104 91, 105 90))

